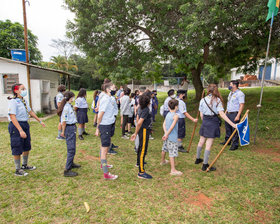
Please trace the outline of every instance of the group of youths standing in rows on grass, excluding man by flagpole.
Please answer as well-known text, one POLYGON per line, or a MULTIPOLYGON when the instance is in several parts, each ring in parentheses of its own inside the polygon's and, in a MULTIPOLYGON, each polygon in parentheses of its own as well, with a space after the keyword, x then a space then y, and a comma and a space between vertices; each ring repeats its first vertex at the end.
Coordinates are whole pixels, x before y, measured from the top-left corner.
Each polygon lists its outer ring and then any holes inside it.
MULTIPOLYGON (((135 152, 137 153, 136 166, 139 168, 138 178, 152 179, 152 176, 145 171, 145 157, 148 150, 149 139, 151 138, 152 122, 155 121, 155 114, 158 108, 156 91, 149 91, 140 88, 131 94, 129 88, 125 88, 120 98, 116 98, 116 86, 108 79, 104 80, 102 91, 95 91, 92 104, 95 113, 94 126, 96 128, 95 135, 100 136, 100 162, 106 180, 115 180, 117 175, 109 172, 113 165, 108 164, 107 154, 112 153, 116 148, 111 142, 111 138, 115 133, 115 122, 118 115, 118 105, 120 102, 120 111, 122 116, 122 137, 128 139, 126 135, 126 126, 130 127, 135 124, 135 132, 131 135, 131 141, 135 141, 135 152), (123 95, 123 96, 122 96, 123 95)), ((13 98, 9 98, 9 133, 11 136, 11 148, 14 155, 16 175, 26 176, 25 170, 34 170, 36 167, 28 166, 28 154, 31 150, 30 132, 28 119, 29 115, 33 116, 37 121, 45 126, 45 124, 30 109, 28 102, 24 100, 26 89, 24 85, 16 84, 12 87, 13 98), (23 155, 23 163, 20 166, 20 155, 23 155)), ((65 139, 67 145, 67 160, 64 170, 64 176, 73 177, 78 173, 72 169, 80 168, 79 164, 74 163, 76 154, 76 123, 78 123, 78 138, 83 140, 83 135, 88 135, 85 131, 85 124, 88 123, 88 104, 86 101, 86 90, 80 89, 77 98, 73 92, 66 91, 65 86, 58 87, 58 95, 56 96, 57 114, 59 115, 58 137, 57 139, 65 139), (75 106, 72 103, 75 101, 75 106), (77 113, 75 113, 75 111, 77 113)), ((178 152, 186 152, 182 146, 182 140, 186 135, 185 118, 187 117, 193 122, 198 119, 193 118, 188 112, 186 103, 183 99, 186 96, 184 90, 178 90, 175 95, 174 90, 168 91, 168 97, 164 101, 163 122, 164 141, 162 146, 161 165, 168 164, 165 159, 166 153, 169 153, 171 175, 182 175, 181 171, 175 168, 175 157, 178 152)), ((195 164, 203 162, 202 170, 207 169, 210 149, 215 138, 220 137, 220 125, 218 114, 233 129, 236 124, 232 122, 224 113, 223 99, 215 84, 210 84, 207 89, 207 95, 201 99, 199 104, 200 117, 202 125, 199 131, 200 140, 197 146, 197 158, 195 164), (206 143, 204 159, 200 158, 203 145, 206 143)), ((131 129, 128 129, 131 130, 131 129)), ((115 151, 114 151, 115 152, 115 151)), ((214 167, 210 169, 215 170, 214 167)))

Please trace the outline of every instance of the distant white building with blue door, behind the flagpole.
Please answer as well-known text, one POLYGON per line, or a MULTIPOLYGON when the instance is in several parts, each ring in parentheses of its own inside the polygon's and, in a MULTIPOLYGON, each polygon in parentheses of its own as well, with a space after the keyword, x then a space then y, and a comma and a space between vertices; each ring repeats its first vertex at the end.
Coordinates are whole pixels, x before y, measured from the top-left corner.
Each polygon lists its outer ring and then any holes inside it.
MULTIPOLYGON (((260 61, 260 64, 264 64, 264 60, 260 61)), ((262 79, 262 72, 263 72, 264 65, 260 65, 257 67, 257 70, 254 72, 254 74, 250 75, 256 75, 259 80, 262 79)), ((231 69, 231 80, 240 79, 241 76, 244 76, 246 74, 243 74, 242 72, 237 72, 238 68, 231 69)), ((278 80, 280 81, 280 61, 279 59, 272 58, 268 61, 267 67, 266 67, 266 74, 265 74, 265 80, 278 80)))

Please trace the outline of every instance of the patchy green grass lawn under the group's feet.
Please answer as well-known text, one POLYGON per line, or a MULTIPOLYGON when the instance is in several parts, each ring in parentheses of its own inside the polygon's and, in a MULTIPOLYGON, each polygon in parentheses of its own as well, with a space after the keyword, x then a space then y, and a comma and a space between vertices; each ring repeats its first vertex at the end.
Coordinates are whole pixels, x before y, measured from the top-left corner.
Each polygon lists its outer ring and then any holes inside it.
MULTIPOLYGON (((253 143, 256 105, 260 88, 243 90, 253 143)), ((228 90, 222 90, 224 99, 228 90)), ((166 94, 159 94, 162 104, 166 94)), ((198 103, 189 93, 188 111, 195 116, 198 103)), ((88 93, 91 105, 92 92, 88 93)), ((136 177, 134 143, 121 139, 118 117, 113 143, 118 154, 109 155, 116 181, 104 181, 100 169, 99 138, 94 136, 93 114, 84 141, 77 140, 75 161, 82 165, 75 178, 63 177, 66 144, 55 140, 58 117, 46 128, 31 122, 30 171, 25 178, 14 176, 8 123, 0 124, 0 223, 279 223, 280 222, 280 88, 265 88, 257 144, 224 151, 217 171, 205 173, 195 165, 198 130, 189 154, 179 154, 181 177, 170 176, 170 167, 160 166, 162 122, 156 117, 155 140, 149 142, 146 171, 150 181, 136 177), (86 213, 84 202, 91 208, 86 213)), ((187 146, 193 129, 187 120, 187 146)), ((200 125, 200 124, 199 124, 200 125)), ((216 139, 210 162, 221 149, 216 139)))

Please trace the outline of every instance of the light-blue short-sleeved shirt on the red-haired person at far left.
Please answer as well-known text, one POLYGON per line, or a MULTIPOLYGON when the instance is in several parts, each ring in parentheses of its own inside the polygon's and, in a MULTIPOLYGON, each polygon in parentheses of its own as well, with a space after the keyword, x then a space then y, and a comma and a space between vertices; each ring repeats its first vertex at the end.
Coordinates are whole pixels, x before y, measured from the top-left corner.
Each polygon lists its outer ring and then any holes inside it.
MULTIPOLYGON (((25 100, 25 104, 26 107, 23 103, 23 100, 20 98, 11 99, 9 101, 8 114, 16 115, 17 121, 28 121, 31 108, 27 100, 25 100)), ((11 121, 10 117, 9 121, 11 121)))

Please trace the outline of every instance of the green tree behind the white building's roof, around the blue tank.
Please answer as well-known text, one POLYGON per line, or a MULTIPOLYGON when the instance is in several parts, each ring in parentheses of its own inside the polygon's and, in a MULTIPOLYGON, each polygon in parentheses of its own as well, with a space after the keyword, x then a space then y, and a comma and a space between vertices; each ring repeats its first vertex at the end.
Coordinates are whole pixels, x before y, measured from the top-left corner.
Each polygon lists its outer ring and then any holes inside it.
MULTIPOLYGON (((37 48, 38 37, 28 30, 28 48, 30 52, 30 63, 37 64, 42 55, 37 48)), ((24 27, 10 20, 0 21, 0 56, 11 58, 10 49, 25 49, 24 27)))

